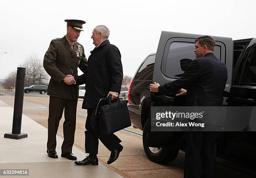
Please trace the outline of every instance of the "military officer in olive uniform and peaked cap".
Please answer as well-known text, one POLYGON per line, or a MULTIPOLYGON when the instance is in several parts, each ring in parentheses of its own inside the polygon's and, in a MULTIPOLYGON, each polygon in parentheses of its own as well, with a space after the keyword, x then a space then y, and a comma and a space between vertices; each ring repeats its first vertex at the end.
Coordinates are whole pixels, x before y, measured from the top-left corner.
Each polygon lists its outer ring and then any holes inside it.
POLYGON ((47 153, 50 158, 58 158, 56 133, 65 109, 61 157, 77 160, 77 157, 72 154, 72 147, 76 127, 79 86, 74 85, 74 78, 69 74, 77 76, 77 68, 83 73, 87 73, 88 64, 84 47, 77 43, 80 32, 83 31, 82 24, 85 22, 83 20, 65 20, 65 22, 67 22, 67 34, 63 38, 51 40, 44 55, 44 69, 51 76, 47 92, 50 95, 47 153))

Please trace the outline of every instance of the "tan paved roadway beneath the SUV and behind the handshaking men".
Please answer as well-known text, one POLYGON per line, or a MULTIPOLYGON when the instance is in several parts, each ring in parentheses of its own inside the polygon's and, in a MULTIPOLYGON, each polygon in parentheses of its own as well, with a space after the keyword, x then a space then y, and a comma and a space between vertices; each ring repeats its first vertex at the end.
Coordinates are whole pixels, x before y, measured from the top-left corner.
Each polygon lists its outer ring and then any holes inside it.
MULTIPOLYGON (((2 92, 2 91, 0 91, 2 92)), ((3 93, 3 92, 2 92, 3 93)), ((23 114, 27 115, 37 123, 47 128, 48 118, 48 104, 49 98, 41 97, 40 94, 24 96, 23 114), (36 95, 36 97, 34 96, 36 95)), ((3 100, 8 105, 14 105, 13 95, 1 95, 0 100, 3 100)), ((86 110, 81 109, 82 99, 79 99, 77 105, 77 114, 83 117, 77 117, 76 133, 74 145, 80 150, 84 151, 84 124, 87 113, 86 110)), ((58 135, 63 137, 63 122, 64 117, 61 119, 58 135)), ((141 134, 141 131, 133 128, 128 128, 141 134)), ((11 128, 10 128, 11 131, 11 128)), ((22 131, 22 130, 21 130, 22 131)), ((146 157, 143 151, 142 138, 124 131, 117 132, 118 137, 122 140, 124 146, 120 157, 114 163, 107 165, 106 162, 109 158, 110 152, 100 143, 99 145, 99 161, 108 166, 125 178, 182 178, 184 169, 184 153, 180 152, 177 158, 172 162, 165 165, 160 165, 151 162, 146 157)), ((28 135, 29 136, 29 135, 28 135)), ((59 153, 60 154, 60 153, 59 153)), ((216 178, 251 178, 248 175, 238 172, 237 170, 229 169, 221 165, 217 165, 216 178)))

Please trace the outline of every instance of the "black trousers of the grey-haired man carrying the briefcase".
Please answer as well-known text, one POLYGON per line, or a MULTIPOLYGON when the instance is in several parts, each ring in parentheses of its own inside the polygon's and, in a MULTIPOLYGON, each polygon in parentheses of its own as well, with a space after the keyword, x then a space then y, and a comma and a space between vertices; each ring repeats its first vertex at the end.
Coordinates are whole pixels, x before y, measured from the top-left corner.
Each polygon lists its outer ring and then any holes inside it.
POLYGON ((115 134, 103 135, 101 133, 95 112, 96 109, 87 109, 86 131, 84 132, 85 153, 98 154, 99 139, 108 150, 113 151, 118 147, 121 140, 115 134))

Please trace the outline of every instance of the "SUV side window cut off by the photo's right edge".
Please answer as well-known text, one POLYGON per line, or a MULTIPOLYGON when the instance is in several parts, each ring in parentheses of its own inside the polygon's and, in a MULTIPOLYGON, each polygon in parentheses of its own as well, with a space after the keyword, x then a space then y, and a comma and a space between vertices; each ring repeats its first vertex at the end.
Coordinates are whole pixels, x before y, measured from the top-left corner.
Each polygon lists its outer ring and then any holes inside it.
POLYGON ((252 48, 244 64, 241 83, 256 85, 256 45, 252 48))

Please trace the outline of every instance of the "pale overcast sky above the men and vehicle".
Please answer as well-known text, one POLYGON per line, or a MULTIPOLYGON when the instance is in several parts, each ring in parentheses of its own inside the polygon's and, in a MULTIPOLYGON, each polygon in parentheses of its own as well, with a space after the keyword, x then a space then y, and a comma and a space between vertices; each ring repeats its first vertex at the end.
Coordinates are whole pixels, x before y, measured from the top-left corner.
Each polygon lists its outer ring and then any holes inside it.
POLYGON ((86 21, 78 42, 88 58, 96 25, 110 29, 122 55, 124 75, 133 76, 156 52, 161 31, 256 37, 254 0, 4 0, 0 3, 0 79, 30 55, 42 59, 54 38, 66 33, 65 19, 86 21), (7 53, 5 53, 7 52, 7 53))

